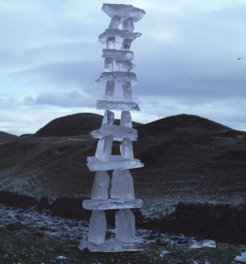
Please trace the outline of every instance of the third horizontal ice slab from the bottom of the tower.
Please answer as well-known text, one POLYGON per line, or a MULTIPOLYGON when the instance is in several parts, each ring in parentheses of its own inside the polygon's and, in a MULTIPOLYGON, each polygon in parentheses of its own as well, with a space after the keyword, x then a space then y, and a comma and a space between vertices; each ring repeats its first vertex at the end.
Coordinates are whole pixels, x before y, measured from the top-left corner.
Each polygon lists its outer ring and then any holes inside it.
POLYGON ((124 159, 121 155, 111 155, 108 161, 100 161, 96 157, 87 158, 90 171, 128 170, 144 167, 139 159, 124 159))

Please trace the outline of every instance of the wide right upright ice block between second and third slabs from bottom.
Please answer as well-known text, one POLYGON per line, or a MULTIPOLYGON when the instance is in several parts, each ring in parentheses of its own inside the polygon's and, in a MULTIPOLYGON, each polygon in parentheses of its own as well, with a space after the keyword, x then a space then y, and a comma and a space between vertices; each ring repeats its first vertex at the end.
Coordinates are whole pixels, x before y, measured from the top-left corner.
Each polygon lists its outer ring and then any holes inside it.
POLYGON ((116 170, 113 172, 110 197, 113 199, 135 199, 133 179, 128 170, 116 170))

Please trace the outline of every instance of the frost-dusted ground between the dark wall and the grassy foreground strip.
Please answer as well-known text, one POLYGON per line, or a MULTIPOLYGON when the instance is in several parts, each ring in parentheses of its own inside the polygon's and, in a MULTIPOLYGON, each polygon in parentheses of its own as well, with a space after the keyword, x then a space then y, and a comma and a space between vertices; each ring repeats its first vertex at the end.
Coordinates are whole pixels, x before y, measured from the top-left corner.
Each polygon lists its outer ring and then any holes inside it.
MULTIPOLYGON (((24 210, 0 205, 0 241, 15 239, 31 240, 86 240, 89 222, 83 220, 66 219, 38 213, 35 210, 24 210)), ((195 237, 182 234, 167 234, 153 230, 136 228, 136 242, 144 244, 192 244, 197 242, 195 237)), ((107 238, 115 238, 114 228, 108 227, 107 238)))

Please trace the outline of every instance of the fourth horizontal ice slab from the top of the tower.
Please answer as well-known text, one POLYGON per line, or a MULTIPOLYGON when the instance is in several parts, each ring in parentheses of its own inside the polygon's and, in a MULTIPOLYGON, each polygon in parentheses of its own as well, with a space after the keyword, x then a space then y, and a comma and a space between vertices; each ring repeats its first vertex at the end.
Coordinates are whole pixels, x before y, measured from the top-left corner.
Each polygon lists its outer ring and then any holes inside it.
POLYGON ((99 79, 95 81, 95 84, 104 84, 107 81, 114 81, 117 85, 123 85, 126 82, 130 82, 131 86, 137 85, 137 77, 134 72, 104 71, 103 73, 101 73, 99 79))

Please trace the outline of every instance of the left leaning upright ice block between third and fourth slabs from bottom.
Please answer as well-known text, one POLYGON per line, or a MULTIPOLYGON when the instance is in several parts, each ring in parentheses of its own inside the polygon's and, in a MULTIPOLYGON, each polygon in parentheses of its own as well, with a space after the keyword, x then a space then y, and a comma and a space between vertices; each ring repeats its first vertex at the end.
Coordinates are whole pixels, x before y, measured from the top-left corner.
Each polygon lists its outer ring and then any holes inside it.
MULTIPOLYGON (((101 138, 97 143, 97 148, 95 151, 95 157, 100 161, 108 161, 110 159, 112 145, 113 145, 113 135, 108 135, 101 138)), ((106 171, 104 169, 98 171, 106 171)))

